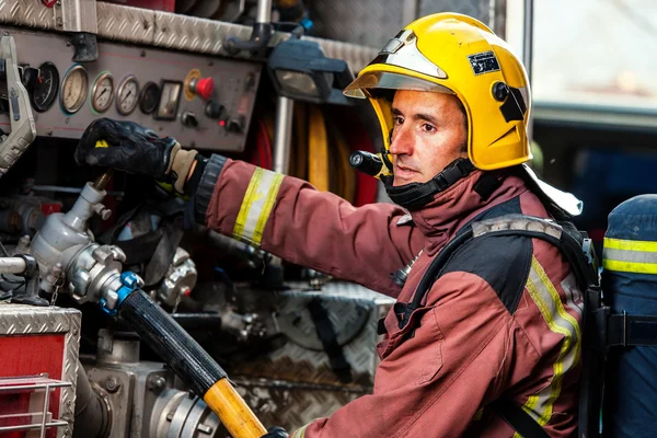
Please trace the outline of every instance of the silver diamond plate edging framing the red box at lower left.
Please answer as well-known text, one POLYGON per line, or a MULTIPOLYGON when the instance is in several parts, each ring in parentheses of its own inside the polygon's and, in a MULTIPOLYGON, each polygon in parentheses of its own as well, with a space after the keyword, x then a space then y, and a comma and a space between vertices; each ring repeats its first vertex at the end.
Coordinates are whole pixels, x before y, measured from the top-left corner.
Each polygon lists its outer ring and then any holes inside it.
MULTIPOLYGON (((74 418, 80 324, 82 313, 76 309, 38 308, 23 304, 0 304, 0 335, 65 333, 66 354, 64 378, 71 387, 60 392, 60 414, 71 426, 74 418)), ((70 436, 71 428, 59 429, 58 436, 70 436)))

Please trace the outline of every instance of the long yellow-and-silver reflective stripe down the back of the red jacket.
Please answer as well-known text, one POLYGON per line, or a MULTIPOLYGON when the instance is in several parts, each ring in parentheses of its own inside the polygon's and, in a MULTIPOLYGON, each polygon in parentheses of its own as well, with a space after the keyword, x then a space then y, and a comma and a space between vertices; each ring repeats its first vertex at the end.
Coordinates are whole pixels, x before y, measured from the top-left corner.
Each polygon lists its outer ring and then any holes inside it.
POLYGON ((561 394, 564 373, 579 361, 581 331, 577 320, 564 308, 558 291, 535 257, 532 257, 526 287, 550 330, 564 336, 561 351, 553 366, 552 381, 538 394, 529 396, 522 406, 541 426, 544 426, 550 422, 554 402, 561 394))

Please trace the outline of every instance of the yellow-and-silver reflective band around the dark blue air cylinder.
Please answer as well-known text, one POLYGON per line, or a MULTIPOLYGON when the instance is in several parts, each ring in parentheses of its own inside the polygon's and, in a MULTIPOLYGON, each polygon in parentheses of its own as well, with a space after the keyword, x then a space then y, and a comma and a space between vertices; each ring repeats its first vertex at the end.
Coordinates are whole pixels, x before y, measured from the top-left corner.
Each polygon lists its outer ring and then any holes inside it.
POLYGON ((657 242, 604 238, 602 267, 635 274, 657 274, 657 242))

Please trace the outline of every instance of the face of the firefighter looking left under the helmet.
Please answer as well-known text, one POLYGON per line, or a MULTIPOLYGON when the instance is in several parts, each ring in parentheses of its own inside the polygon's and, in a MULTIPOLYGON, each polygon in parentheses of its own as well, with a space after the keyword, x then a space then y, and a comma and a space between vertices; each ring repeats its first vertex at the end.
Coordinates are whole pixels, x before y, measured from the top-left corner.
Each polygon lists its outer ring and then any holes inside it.
POLYGON ((468 157, 465 115, 456 96, 400 90, 392 113, 395 186, 426 183, 459 157, 468 157))

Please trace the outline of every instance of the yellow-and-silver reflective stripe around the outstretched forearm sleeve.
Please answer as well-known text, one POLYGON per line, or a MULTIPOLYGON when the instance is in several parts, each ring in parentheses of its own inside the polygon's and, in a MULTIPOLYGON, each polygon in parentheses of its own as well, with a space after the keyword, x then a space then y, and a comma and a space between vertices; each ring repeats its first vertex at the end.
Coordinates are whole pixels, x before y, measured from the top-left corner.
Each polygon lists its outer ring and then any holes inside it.
POLYGON ((284 175, 256 168, 242 200, 233 238, 258 246, 269 219, 284 175))

